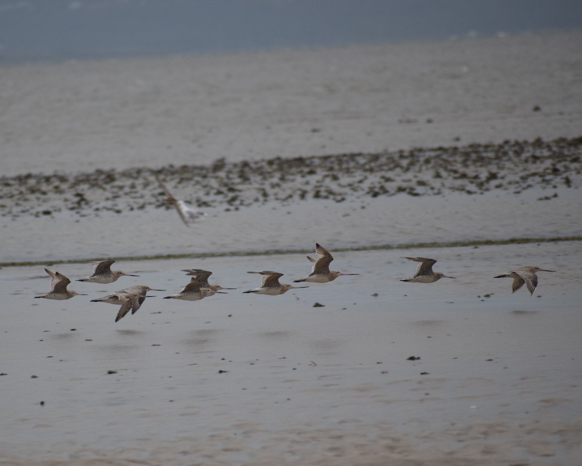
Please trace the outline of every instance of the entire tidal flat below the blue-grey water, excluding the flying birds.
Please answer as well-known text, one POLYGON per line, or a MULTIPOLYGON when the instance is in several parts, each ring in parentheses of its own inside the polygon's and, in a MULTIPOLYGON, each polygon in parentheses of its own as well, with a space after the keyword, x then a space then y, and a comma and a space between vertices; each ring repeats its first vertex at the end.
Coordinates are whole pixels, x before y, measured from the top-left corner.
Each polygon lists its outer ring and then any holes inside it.
POLYGON ((0 465, 578 465, 581 40, 2 66, 0 465))

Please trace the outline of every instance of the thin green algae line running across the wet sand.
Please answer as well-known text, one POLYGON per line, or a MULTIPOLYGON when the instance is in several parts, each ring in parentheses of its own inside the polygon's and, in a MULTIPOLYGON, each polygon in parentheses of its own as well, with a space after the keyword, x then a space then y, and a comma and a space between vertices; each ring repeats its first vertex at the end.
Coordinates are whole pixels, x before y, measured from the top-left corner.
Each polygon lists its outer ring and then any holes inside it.
MULTIPOLYGON (((403 243, 403 244, 378 244, 375 246, 354 246, 345 248, 333 248, 333 251, 379 251, 379 250, 399 250, 414 248, 455 248, 455 247, 478 247, 478 246, 502 246, 504 244, 527 244, 527 243, 554 243, 556 241, 582 241, 582 236, 558 236, 552 238, 510 238, 504 240, 471 240, 471 241, 432 241, 427 243, 403 243)), ((116 261, 151 261, 163 259, 204 259, 211 257, 246 257, 254 255, 281 255, 281 254, 304 254, 304 249, 271 249, 261 251, 224 251, 224 252, 183 252, 180 254, 152 254, 139 256, 116 257, 116 261)), ((19 267, 29 265, 56 265, 56 264, 84 264, 86 262, 97 262, 110 259, 109 257, 92 257, 84 259, 64 259, 62 261, 15 261, 0 262, 0 267, 19 267)))

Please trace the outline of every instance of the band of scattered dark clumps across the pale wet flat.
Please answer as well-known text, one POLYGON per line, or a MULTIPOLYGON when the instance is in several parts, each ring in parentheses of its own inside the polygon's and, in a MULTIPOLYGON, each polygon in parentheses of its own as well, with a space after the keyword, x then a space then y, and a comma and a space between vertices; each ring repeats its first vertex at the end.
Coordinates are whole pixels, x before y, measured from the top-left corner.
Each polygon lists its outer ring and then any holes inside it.
MULTIPOLYGON (((439 195, 456 191, 521 192, 531 187, 580 187, 582 137, 504 141, 461 147, 413 148, 156 170, 176 196, 198 208, 233 209, 265 202, 379 196, 439 195)), ((95 215, 168 208, 148 168, 0 177, 0 215, 44 216, 72 211, 95 215)))

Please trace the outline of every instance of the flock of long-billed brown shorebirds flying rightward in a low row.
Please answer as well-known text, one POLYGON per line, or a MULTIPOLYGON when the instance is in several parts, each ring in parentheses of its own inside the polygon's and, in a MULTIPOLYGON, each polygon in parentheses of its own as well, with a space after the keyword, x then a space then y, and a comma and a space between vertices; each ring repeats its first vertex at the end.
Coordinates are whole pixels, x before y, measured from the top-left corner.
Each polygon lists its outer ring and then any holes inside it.
MULTIPOLYGON (((343 273, 339 271, 329 270, 329 264, 333 261, 333 257, 329 254, 324 247, 320 244, 315 244, 315 252, 318 254, 318 258, 307 256, 310 262, 314 262, 313 268, 311 269, 310 275, 303 278, 293 280, 293 283, 327 283, 332 282, 339 276, 344 275, 359 275, 358 273, 343 273)), ((418 262, 418 267, 416 273, 409 278, 402 279, 402 282, 414 282, 414 283, 434 283, 441 278, 456 278, 445 275, 441 272, 433 272, 432 266, 437 262, 435 259, 429 259, 424 257, 405 257, 410 261, 418 262)), ((131 275, 130 273, 125 273, 121 271, 111 270, 111 266, 115 261, 101 261, 95 264, 93 274, 85 278, 80 278, 77 282, 92 282, 92 283, 113 283, 118 278, 122 276, 136 277, 139 275, 131 275)), ((65 275, 59 272, 51 272, 48 269, 44 269, 45 272, 51 277, 51 291, 45 294, 40 294, 35 296, 35 298, 47 298, 51 300, 68 300, 73 296, 87 296, 84 293, 77 293, 77 291, 69 290, 68 285, 70 280, 66 278, 65 275)), ((502 273, 501 275, 495 276, 495 278, 509 277, 513 278, 512 292, 519 290, 524 284, 526 285, 528 291, 530 291, 530 296, 534 294, 535 288, 538 285, 538 277, 536 272, 555 272, 551 270, 541 269, 537 266, 525 266, 519 269, 513 269, 509 272, 502 273)), ((179 299, 187 301, 197 301, 208 296, 212 296, 216 293, 224 293, 221 290, 235 290, 236 288, 226 288, 219 284, 208 283, 208 278, 212 275, 212 272, 204 271, 201 269, 185 269, 186 275, 190 275, 190 282, 183 287, 178 293, 165 296, 164 299, 179 299)), ((282 273, 272 272, 272 271, 258 271, 258 272, 248 272, 248 273, 259 273, 262 275, 261 286, 253 288, 251 290, 243 291, 243 293, 255 293, 255 294, 268 294, 271 296, 276 296, 278 294, 286 293, 288 290, 307 288, 307 286, 293 286, 289 283, 279 283, 279 278, 283 276, 282 273)), ((119 305, 119 312, 115 318, 115 322, 119 321, 127 312, 132 311, 132 314, 140 308, 141 304, 145 301, 148 291, 165 291, 161 289, 151 288, 147 285, 136 285, 130 286, 129 288, 124 288, 122 290, 116 291, 115 293, 108 294, 107 296, 102 296, 91 300, 91 302, 96 303, 109 303, 119 305)))

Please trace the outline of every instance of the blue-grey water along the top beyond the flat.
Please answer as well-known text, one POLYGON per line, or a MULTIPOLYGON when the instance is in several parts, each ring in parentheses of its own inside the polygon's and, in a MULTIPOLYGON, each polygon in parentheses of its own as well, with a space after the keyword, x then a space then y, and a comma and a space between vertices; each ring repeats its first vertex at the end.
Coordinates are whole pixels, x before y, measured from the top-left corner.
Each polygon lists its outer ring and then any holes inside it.
POLYGON ((0 63, 580 27, 577 0, 2 0, 0 63))

